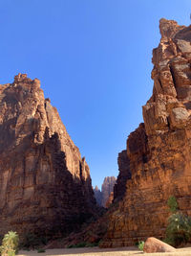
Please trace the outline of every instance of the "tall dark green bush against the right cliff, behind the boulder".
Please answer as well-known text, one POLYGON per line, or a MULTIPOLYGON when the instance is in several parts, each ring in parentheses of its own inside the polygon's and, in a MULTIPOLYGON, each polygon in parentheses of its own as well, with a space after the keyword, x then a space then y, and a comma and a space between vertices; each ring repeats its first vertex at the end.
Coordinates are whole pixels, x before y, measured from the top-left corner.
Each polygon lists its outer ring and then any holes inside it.
POLYGON ((175 197, 168 199, 168 206, 172 215, 168 218, 164 242, 173 246, 188 243, 191 239, 191 218, 178 211, 175 197))

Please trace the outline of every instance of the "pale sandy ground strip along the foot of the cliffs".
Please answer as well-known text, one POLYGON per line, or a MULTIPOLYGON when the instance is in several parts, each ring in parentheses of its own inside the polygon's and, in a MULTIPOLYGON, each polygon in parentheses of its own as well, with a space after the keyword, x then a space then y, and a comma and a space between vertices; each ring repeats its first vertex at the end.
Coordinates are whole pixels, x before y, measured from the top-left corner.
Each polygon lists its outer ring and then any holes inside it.
POLYGON ((143 253, 137 247, 123 247, 123 248, 70 248, 70 249, 48 249, 44 253, 37 253, 37 251, 19 251, 18 256, 43 256, 43 255, 70 255, 70 256, 124 256, 124 255, 148 255, 148 256, 191 256, 191 247, 177 249, 176 252, 166 253, 143 253))

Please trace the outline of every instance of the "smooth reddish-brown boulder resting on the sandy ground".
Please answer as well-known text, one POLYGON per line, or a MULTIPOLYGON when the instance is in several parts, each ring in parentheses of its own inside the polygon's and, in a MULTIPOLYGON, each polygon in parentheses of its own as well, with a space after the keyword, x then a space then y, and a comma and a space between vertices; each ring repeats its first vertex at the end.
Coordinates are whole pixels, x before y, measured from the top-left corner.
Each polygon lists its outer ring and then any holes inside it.
POLYGON ((176 248, 173 246, 161 242, 156 238, 148 238, 144 244, 143 248, 144 252, 152 253, 152 252, 174 252, 176 248))

